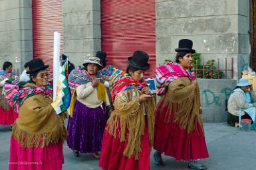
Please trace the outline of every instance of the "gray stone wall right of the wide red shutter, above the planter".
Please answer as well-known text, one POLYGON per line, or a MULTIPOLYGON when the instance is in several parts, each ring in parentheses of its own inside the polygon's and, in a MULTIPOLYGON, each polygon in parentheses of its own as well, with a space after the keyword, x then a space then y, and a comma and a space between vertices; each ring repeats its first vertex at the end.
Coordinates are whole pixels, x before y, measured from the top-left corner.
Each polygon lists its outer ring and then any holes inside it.
MULTIPOLYGON (((174 60, 178 41, 193 40, 201 60, 219 60, 234 76, 249 64, 249 0, 156 0, 157 64, 174 60)), ((230 73, 227 74, 230 77, 230 73)))

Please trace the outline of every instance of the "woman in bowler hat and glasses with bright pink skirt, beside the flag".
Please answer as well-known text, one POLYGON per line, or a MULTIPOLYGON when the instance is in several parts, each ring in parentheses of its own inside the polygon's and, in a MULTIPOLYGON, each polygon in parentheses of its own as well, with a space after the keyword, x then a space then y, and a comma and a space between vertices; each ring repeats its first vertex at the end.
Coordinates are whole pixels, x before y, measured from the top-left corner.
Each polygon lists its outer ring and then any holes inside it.
POLYGON ((49 73, 40 58, 29 63, 30 81, 7 91, 10 105, 19 117, 13 124, 10 146, 10 170, 61 170, 64 163, 63 142, 67 130, 66 113, 56 114, 49 73), (19 88, 18 88, 19 86, 19 88))

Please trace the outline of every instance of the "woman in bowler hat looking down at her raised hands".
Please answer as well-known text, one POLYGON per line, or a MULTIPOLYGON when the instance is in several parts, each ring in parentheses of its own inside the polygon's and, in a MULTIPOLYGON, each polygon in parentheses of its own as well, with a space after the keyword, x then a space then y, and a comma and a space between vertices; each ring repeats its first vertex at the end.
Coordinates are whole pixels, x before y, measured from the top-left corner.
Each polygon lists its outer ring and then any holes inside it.
POLYGON ((114 111, 102 141, 100 167, 111 170, 149 170, 154 141, 154 97, 144 73, 150 68, 148 54, 135 51, 126 72, 112 76, 110 89, 114 111))

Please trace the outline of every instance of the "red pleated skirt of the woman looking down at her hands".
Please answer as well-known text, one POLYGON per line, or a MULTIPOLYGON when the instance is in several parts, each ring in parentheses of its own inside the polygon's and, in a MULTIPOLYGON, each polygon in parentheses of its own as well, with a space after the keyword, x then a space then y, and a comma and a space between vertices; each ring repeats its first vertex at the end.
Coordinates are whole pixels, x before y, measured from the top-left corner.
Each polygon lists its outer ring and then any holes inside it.
POLYGON ((138 160, 135 160, 133 156, 128 158, 123 155, 126 146, 127 138, 126 142, 120 142, 119 138, 114 138, 105 130, 99 166, 106 170, 150 170, 150 141, 147 123, 145 123, 144 135, 141 140, 142 151, 138 160))

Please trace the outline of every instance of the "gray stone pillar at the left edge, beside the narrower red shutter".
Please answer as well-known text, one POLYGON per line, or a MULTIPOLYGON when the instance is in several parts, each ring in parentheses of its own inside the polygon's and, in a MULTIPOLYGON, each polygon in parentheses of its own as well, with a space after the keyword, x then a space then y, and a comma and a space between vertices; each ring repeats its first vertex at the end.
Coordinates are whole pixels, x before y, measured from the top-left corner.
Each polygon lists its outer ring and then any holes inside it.
POLYGON ((31 0, 0 0, 0 67, 13 63, 23 71, 25 62, 33 58, 31 0))

